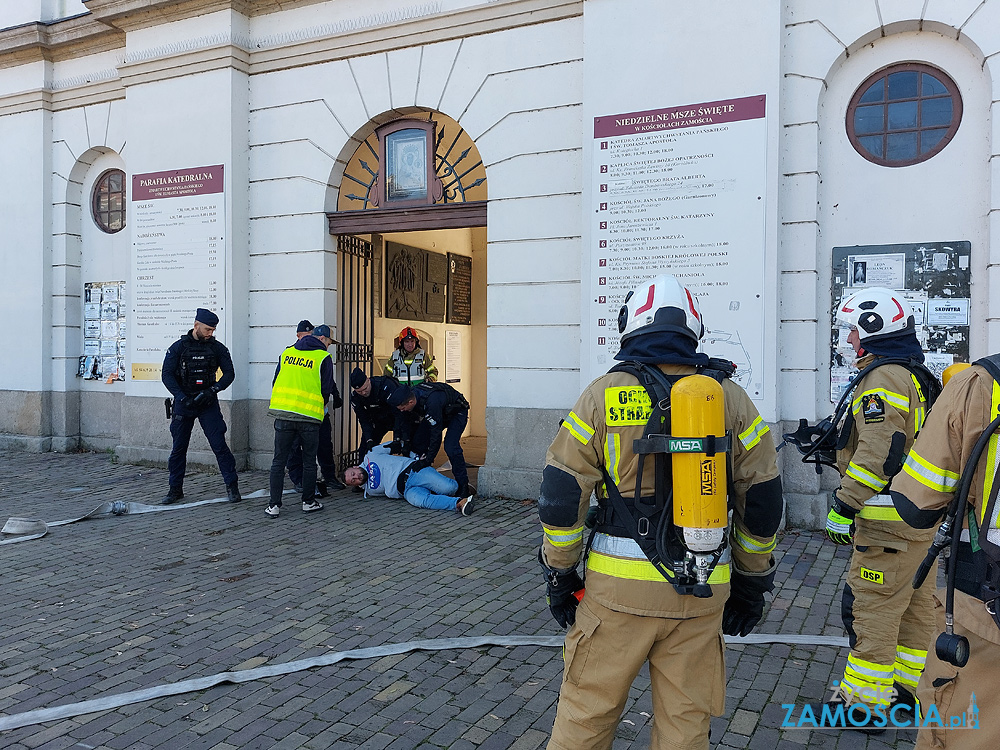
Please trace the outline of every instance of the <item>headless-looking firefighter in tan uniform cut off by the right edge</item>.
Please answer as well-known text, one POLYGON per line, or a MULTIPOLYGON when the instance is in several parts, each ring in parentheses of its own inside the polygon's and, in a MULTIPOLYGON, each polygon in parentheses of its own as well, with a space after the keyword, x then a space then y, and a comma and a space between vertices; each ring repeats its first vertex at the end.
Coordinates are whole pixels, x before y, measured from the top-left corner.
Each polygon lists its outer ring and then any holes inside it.
MULTIPOLYGON (((996 689, 1000 616, 991 614, 1000 612, 1000 514, 996 502, 1000 437, 988 427, 996 427, 991 422, 1000 415, 1000 384, 996 380, 1000 369, 995 369, 994 375, 988 369, 998 364, 1000 355, 993 355, 948 382, 906 458, 903 473, 892 485, 899 515, 911 526, 925 529, 941 520, 967 467, 971 474, 965 507, 968 514, 962 514, 964 528, 957 549, 951 551, 958 565, 954 633, 966 639, 968 663, 954 666, 940 658, 947 658, 947 653, 941 652, 928 658, 917 688, 923 714, 917 750, 993 750, 1000 736, 1000 691, 996 689), (981 460, 976 460, 974 451, 980 438, 984 450, 981 460), (949 728, 952 717, 959 717, 963 728, 949 728)), ((962 527, 962 521, 957 525, 962 527)), ((938 590, 934 600, 934 632, 942 632, 946 625, 945 590, 938 590)), ((940 640, 937 645, 941 645, 940 640)))

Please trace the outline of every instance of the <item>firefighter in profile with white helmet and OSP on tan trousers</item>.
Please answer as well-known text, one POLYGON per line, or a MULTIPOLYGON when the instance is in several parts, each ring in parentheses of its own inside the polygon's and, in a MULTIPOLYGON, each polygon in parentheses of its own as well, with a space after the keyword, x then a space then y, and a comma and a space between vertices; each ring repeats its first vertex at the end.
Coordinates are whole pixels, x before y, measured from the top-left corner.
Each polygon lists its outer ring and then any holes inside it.
POLYGON ((900 519, 888 485, 903 468, 938 385, 922 366, 913 312, 901 295, 863 289, 844 300, 837 317, 851 326, 848 341, 859 370, 886 358, 907 362, 876 366, 857 383, 838 445, 841 482, 826 527, 836 544, 854 544, 842 600, 851 652, 839 681, 843 700, 832 705, 864 703, 867 711, 852 711, 846 726, 881 733, 893 703, 912 719, 933 629, 933 584, 910 585, 933 532, 900 519))

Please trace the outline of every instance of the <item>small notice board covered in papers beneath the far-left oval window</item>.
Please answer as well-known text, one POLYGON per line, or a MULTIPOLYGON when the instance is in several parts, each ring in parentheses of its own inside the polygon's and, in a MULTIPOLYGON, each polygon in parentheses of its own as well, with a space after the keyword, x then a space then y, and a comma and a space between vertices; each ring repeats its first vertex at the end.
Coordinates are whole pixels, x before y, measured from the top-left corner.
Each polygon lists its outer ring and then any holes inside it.
POLYGON ((119 352, 126 345, 124 281, 90 281, 83 285, 83 355, 76 376, 106 383, 125 380, 119 352))

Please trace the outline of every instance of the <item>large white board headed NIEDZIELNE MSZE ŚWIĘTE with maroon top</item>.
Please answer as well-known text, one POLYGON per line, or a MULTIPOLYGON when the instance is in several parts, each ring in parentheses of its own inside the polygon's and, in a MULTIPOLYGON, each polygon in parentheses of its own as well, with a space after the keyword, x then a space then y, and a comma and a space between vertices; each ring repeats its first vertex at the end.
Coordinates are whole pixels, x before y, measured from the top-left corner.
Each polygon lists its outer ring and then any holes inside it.
POLYGON ((589 377, 614 363, 626 293, 669 273, 699 298, 702 350, 764 398, 766 166, 763 95, 594 118, 589 377))

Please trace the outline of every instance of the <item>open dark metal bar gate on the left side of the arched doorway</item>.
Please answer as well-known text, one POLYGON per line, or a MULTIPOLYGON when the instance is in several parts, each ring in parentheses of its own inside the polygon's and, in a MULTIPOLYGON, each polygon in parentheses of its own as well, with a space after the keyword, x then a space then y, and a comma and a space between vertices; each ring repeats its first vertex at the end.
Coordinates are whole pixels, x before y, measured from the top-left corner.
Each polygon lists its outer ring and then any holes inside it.
POLYGON ((351 370, 360 367, 370 375, 374 366, 375 296, 373 294, 374 264, 372 243, 354 237, 337 237, 337 385, 344 397, 344 406, 334 412, 333 434, 337 470, 361 462, 361 427, 351 409, 351 370))

